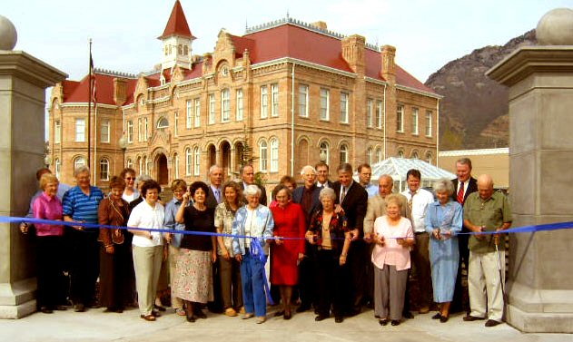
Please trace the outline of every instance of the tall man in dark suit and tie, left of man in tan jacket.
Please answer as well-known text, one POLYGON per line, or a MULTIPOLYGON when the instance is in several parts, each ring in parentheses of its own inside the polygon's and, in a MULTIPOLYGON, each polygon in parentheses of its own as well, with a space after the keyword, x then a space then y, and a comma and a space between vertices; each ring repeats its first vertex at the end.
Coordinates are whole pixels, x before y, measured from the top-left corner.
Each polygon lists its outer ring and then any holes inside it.
MULTIPOLYGON (((348 302, 346 303, 346 315, 355 316, 361 313, 362 299, 366 287, 366 263, 368 249, 364 241, 364 216, 368 205, 368 193, 356 181, 352 180, 352 166, 343 163, 338 167, 338 181, 332 184, 336 192, 335 210, 343 212, 348 219, 348 227, 351 230, 351 249, 346 261, 349 280, 348 302)), ((338 321, 337 321, 338 322, 338 321)))

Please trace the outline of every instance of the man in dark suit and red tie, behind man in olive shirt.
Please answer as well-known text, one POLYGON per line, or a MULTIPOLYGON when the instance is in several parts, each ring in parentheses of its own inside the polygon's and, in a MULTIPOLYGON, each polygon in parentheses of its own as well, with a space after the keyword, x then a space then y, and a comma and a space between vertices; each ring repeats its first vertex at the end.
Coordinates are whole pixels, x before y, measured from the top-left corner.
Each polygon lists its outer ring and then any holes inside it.
MULTIPOLYGON (((471 177, 471 160, 469 158, 461 158, 456 161, 456 179, 451 182, 454 184, 454 193, 451 194, 452 200, 456 200, 463 207, 469 194, 478 191, 478 181, 471 177)), ((463 226, 462 232, 469 232, 466 226, 463 226)), ((458 237, 459 243, 459 266, 458 276, 456 278, 456 288, 454 289, 454 297, 452 299, 450 312, 460 312, 464 309, 469 313, 469 307, 464 308, 463 298, 464 293, 468 289, 461 286, 461 263, 463 262, 468 269, 469 265, 469 249, 468 249, 468 235, 461 234, 458 237)))

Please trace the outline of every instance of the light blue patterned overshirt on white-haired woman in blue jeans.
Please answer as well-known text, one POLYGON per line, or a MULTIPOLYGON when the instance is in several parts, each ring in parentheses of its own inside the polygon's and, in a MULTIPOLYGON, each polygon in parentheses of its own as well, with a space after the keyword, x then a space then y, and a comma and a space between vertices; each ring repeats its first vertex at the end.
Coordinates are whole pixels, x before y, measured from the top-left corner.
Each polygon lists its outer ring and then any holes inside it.
MULTIPOLYGON (((232 251, 235 255, 245 254, 245 239, 238 238, 237 235, 245 235, 244 223, 247 220, 247 207, 242 206, 237 210, 235 215, 235 220, 232 221, 232 251)), ((269 208, 259 204, 259 206, 254 210, 253 218, 255 224, 251 227, 251 236, 256 238, 272 238, 272 229, 274 228, 274 220, 272 220, 272 212, 269 208)), ((263 246, 264 254, 269 254, 269 246, 267 243, 263 246)))

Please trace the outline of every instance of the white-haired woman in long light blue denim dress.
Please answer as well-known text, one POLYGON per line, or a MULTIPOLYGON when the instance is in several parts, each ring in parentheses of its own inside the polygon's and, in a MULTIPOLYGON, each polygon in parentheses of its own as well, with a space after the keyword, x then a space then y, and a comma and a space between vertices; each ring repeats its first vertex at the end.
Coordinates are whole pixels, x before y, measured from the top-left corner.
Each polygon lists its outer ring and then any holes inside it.
POLYGON ((436 181, 434 191, 438 200, 428 206, 426 231, 430 233, 434 300, 440 304, 440 311, 432 318, 445 323, 450 318, 450 302, 458 274, 459 248, 456 234, 461 230, 463 213, 461 205, 451 200, 454 187, 449 179, 436 181))

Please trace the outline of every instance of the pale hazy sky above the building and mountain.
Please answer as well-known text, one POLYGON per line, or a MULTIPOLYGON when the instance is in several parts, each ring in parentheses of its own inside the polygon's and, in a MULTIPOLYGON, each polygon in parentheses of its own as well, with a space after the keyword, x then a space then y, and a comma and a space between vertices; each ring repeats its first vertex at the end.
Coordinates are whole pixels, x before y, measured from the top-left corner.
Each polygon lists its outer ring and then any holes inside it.
MULTIPOLYGON (((160 63, 163 33, 174 0, 19 0, 0 6, 15 24, 15 50, 82 78, 89 44, 96 68, 141 73, 160 63)), ((181 0, 193 54, 212 52, 225 28, 242 35, 245 26, 284 18, 324 21, 339 34, 361 34, 370 44, 397 48, 396 62, 425 82, 448 62, 486 45, 506 44, 537 26, 549 10, 573 0, 181 0)))

